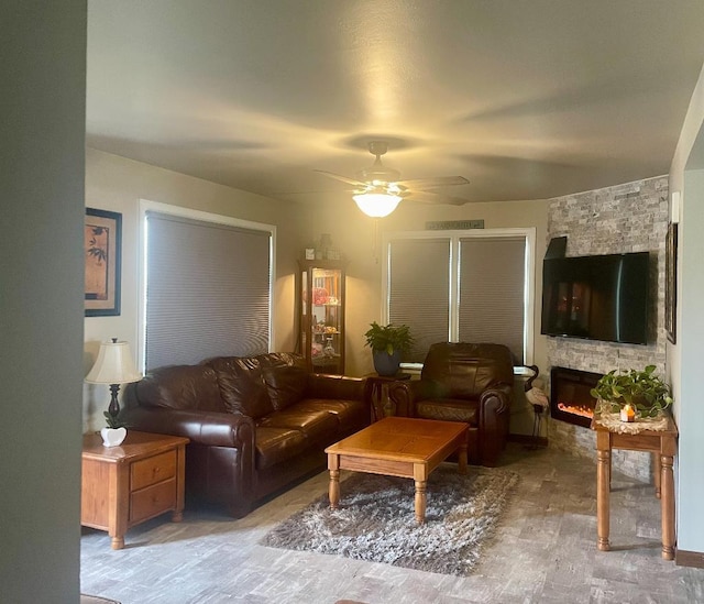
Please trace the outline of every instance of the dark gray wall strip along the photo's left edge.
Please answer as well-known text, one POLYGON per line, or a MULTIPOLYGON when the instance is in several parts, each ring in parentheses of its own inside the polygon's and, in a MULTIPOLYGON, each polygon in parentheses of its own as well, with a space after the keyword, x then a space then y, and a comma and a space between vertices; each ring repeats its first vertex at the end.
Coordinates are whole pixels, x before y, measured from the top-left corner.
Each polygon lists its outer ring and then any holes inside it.
POLYGON ((0 601, 79 600, 86 2, 0 19, 0 601))

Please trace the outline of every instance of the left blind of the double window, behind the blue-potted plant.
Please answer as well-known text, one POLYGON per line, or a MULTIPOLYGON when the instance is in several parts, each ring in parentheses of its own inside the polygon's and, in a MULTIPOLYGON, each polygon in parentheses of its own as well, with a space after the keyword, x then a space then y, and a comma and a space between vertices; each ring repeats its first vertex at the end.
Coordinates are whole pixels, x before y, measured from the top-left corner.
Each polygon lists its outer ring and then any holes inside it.
POLYGON ((388 253, 389 322, 410 326, 414 347, 404 361, 421 363, 450 333, 450 240, 393 240, 388 253))

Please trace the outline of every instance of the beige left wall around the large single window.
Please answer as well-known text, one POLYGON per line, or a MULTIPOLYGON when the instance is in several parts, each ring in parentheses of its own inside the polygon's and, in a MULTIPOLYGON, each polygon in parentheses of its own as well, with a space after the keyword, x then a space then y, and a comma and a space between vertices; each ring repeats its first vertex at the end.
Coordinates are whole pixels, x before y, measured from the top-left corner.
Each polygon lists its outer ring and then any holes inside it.
MULTIPOLYGON (((86 317, 84 370, 88 373, 100 342, 119 338, 136 356, 140 199, 172 204, 277 227, 274 309, 275 350, 295 347, 296 257, 305 245, 302 212, 279 201, 86 150, 86 206, 122 213, 122 308, 118 317, 86 317)), ((99 429, 110 396, 105 386, 84 386, 84 431, 99 429)))

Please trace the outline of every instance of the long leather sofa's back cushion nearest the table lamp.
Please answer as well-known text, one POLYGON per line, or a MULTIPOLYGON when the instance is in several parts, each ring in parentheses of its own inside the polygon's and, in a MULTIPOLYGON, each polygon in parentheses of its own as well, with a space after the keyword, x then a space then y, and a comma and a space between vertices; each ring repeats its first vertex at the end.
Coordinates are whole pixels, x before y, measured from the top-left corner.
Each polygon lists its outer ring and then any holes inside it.
POLYGON ((158 367, 130 386, 128 397, 143 407, 224 411, 216 373, 205 365, 158 367))

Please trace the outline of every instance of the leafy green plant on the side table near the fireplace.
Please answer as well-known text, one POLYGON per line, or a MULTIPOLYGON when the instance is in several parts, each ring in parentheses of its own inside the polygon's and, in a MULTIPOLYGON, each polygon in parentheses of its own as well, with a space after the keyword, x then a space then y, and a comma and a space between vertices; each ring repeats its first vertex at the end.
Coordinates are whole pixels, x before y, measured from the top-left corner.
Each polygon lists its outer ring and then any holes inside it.
POLYGON ((591 394, 612 411, 630 405, 640 417, 656 417, 672 405, 672 395, 670 386, 654 372, 654 365, 641 371, 612 370, 596 383, 591 394))

